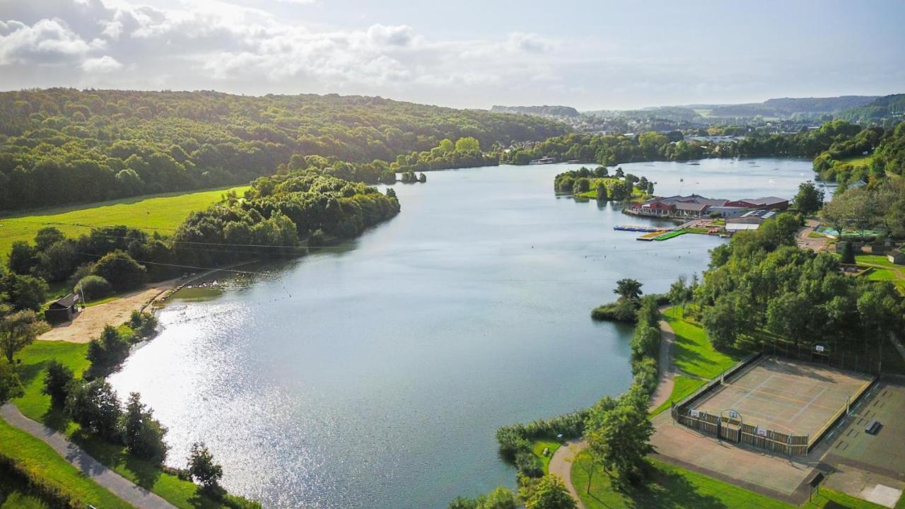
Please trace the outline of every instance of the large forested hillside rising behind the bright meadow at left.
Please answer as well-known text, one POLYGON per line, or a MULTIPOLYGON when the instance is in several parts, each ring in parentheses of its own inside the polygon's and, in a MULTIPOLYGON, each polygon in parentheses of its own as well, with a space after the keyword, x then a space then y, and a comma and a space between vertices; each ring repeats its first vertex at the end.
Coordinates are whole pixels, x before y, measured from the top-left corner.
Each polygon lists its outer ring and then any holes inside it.
POLYGON ((552 120, 379 97, 0 93, 0 210, 245 183, 291 156, 394 160, 442 139, 546 139, 552 120))

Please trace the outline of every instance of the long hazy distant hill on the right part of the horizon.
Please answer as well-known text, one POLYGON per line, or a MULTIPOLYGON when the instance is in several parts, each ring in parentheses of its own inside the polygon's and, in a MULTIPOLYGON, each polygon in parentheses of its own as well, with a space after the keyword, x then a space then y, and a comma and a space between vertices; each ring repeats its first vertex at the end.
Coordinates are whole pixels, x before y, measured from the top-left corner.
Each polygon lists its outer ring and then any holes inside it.
POLYGON ((696 109, 710 110, 711 117, 790 117, 795 114, 822 115, 865 106, 878 99, 874 95, 843 95, 839 97, 805 97, 769 99, 744 104, 698 105, 696 109))

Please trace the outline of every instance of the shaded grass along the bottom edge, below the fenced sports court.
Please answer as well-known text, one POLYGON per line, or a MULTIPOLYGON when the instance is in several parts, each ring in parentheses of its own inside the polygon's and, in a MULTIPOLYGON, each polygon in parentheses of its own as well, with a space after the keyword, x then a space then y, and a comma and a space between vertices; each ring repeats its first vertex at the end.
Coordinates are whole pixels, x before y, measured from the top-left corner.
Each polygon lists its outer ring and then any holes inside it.
MULTIPOLYGON (((674 508, 694 507, 695 509, 791 509, 795 505, 786 504, 735 485, 729 485, 707 475, 691 472, 678 466, 651 460, 652 474, 648 485, 617 491, 610 484, 610 477, 600 466, 591 466, 590 456, 582 453, 572 465, 572 482, 578 496, 587 509, 616 508, 674 508), (588 472, 591 477, 588 493, 588 472)), ((901 502, 900 502, 901 504, 901 502)), ((880 509, 872 504, 849 495, 821 488, 814 495, 814 501, 800 505, 804 508, 826 509, 880 509)))

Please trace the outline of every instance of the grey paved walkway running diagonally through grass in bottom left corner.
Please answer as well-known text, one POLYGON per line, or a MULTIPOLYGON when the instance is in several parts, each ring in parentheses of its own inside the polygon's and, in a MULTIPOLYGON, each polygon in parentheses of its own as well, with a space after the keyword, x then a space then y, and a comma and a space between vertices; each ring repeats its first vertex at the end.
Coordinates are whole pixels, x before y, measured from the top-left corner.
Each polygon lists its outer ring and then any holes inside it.
POLYGON ((99 485, 106 488, 113 495, 135 505, 139 509, 176 509, 176 506, 168 503, 163 498, 149 492, 143 487, 133 484, 131 481, 103 466, 100 462, 80 447, 69 441, 69 438, 53 431, 41 423, 26 418, 13 404, 7 403, 0 407, 0 417, 4 418, 13 427, 40 438, 48 446, 53 447, 57 453, 75 466, 82 473, 88 475, 99 485))

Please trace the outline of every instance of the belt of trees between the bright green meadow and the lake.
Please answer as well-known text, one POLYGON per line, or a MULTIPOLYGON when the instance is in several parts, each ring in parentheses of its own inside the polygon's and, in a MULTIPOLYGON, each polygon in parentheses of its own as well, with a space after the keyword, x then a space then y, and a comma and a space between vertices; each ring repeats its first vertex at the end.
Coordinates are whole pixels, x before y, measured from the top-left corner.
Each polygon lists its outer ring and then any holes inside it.
POLYGON ((0 269, 0 304, 11 312, 40 311, 48 282, 98 299, 185 272, 179 265, 212 266, 299 253, 350 238, 399 212, 392 193, 305 170, 258 178, 245 197, 234 194, 186 218, 173 235, 126 226, 93 228, 76 238, 47 226, 33 243, 15 242, 0 269))

